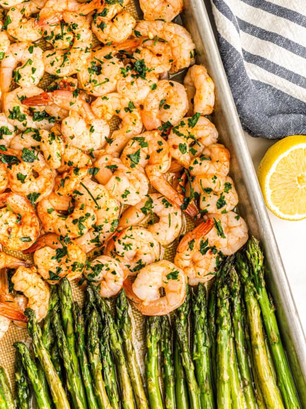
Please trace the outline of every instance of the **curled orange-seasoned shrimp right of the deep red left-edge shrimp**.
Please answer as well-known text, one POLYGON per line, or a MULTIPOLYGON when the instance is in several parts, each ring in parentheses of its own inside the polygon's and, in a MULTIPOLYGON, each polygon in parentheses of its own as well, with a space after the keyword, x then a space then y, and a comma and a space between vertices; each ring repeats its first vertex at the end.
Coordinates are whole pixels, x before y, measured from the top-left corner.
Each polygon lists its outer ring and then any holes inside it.
POLYGON ((38 203, 37 213, 45 232, 67 235, 69 238, 87 233, 96 221, 91 206, 84 206, 79 201, 73 206, 69 196, 58 196, 54 193, 38 203))

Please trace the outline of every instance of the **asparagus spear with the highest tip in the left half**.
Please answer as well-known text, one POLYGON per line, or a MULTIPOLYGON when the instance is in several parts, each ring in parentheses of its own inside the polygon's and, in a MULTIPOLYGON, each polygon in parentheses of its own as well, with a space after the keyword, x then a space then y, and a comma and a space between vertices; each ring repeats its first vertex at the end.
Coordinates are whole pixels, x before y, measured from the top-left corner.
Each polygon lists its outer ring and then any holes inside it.
POLYGON ((74 373, 76 375, 74 388, 78 389, 78 395, 80 396, 80 404, 86 409, 87 399, 86 391, 83 383, 82 372, 77 353, 77 342, 74 333, 74 323, 72 315, 72 291, 71 285, 66 278, 63 278, 58 286, 58 293, 60 299, 60 309, 62 316, 62 323, 64 333, 66 335, 68 348, 72 357, 72 365, 74 373))

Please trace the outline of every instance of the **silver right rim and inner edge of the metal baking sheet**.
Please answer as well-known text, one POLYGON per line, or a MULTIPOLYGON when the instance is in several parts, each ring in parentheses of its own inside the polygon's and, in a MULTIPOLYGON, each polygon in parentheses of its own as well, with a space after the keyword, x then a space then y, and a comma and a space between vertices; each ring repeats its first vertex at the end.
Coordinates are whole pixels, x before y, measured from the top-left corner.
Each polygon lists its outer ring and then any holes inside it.
POLYGON ((231 151, 231 177, 239 194, 239 213, 246 220, 249 233, 258 237, 263 244, 267 284, 275 302, 278 323, 302 407, 306 407, 306 338, 223 69, 214 36, 210 1, 185 0, 184 3, 183 25, 195 42, 197 62, 207 67, 216 85, 212 121, 219 131, 220 141, 231 151))

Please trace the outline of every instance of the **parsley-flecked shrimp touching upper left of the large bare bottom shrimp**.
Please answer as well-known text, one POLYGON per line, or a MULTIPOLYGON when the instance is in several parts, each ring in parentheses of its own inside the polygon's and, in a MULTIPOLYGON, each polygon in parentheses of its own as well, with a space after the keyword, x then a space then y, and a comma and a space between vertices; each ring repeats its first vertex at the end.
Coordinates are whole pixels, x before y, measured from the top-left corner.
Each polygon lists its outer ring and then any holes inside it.
POLYGON ((123 229, 106 244, 104 254, 122 263, 127 275, 162 258, 160 243, 141 226, 123 229))

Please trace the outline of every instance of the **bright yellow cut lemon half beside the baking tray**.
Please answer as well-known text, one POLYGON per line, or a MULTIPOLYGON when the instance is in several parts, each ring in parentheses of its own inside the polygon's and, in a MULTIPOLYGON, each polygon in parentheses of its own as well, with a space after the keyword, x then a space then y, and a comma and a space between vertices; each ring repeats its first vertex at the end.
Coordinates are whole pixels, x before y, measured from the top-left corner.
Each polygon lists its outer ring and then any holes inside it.
POLYGON ((306 218, 306 136, 292 135, 272 145, 258 178, 271 212, 286 220, 306 218))

